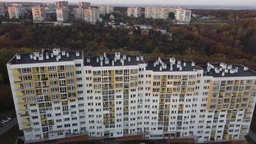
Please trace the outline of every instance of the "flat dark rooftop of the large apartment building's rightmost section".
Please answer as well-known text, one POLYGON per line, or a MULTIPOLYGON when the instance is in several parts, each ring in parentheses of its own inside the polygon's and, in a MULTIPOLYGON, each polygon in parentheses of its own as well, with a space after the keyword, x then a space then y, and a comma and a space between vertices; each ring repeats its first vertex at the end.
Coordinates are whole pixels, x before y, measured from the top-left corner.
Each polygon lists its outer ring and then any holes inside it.
POLYGON ((226 64, 226 68, 228 65, 230 65, 230 69, 227 69, 227 72, 225 72, 225 69, 220 65, 220 62, 216 63, 209 63, 210 65, 214 66, 214 69, 211 68, 210 72, 207 72, 208 65, 198 65, 198 67, 203 69, 203 76, 213 76, 213 77, 245 77, 245 76, 256 76, 256 72, 252 69, 248 69, 247 67, 239 64, 226 64), (232 65, 232 66, 231 66, 232 65), (215 68, 221 70, 219 73, 215 72, 215 68), (247 68, 247 70, 244 70, 247 68), (237 72, 230 73, 232 71, 237 69, 237 72), (222 76, 222 73, 224 73, 224 76, 222 76))

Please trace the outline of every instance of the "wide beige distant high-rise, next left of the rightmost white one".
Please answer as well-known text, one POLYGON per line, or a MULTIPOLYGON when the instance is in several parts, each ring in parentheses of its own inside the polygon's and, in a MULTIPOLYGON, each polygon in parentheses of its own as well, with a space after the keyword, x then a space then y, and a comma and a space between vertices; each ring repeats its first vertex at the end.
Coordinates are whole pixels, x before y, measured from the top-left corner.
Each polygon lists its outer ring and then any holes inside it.
POLYGON ((152 19, 168 19, 169 12, 168 7, 146 7, 145 18, 152 19))

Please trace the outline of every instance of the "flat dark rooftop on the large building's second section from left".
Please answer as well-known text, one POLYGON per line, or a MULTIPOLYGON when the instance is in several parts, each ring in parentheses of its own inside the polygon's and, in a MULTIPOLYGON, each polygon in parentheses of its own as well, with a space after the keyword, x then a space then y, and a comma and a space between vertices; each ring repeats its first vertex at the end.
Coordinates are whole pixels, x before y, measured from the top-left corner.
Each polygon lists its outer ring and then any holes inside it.
POLYGON ((112 61, 114 61, 114 66, 121 66, 123 59, 123 65, 138 65, 145 63, 143 61, 143 56, 132 56, 132 55, 121 55, 120 53, 105 53, 104 56, 85 56, 84 66, 112 66, 112 61))

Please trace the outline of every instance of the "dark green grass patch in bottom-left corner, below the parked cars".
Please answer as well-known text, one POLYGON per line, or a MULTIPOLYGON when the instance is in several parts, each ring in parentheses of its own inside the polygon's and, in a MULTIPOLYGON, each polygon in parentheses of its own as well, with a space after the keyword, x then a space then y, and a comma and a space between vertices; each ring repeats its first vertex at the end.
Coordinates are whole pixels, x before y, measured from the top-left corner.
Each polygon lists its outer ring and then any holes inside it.
POLYGON ((0 135, 0 144, 15 144, 18 136, 23 135, 23 132, 19 130, 19 126, 15 125, 7 132, 0 135))

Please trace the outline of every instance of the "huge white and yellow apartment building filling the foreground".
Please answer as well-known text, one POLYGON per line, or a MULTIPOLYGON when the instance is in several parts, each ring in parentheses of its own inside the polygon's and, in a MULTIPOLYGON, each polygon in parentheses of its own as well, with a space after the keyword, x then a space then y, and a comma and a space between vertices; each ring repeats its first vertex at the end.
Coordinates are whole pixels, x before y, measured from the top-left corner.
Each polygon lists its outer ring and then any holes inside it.
POLYGON ((45 49, 7 63, 25 142, 242 141, 256 101, 243 65, 45 49))

